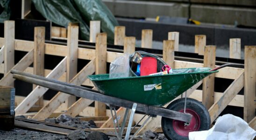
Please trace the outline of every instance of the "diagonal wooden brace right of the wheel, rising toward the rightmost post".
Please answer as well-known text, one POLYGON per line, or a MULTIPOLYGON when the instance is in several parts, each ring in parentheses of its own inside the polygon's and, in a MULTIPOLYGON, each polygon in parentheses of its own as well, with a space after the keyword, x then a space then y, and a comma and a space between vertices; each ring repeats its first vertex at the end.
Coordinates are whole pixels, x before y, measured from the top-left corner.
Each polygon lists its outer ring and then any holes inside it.
MULTIPOLYGON (((233 81, 226 91, 224 91, 223 96, 215 102, 209 109, 211 123, 220 115, 220 113, 228 106, 228 104, 235 98, 235 95, 242 90, 244 86, 244 73, 242 73, 235 81, 233 81)), ((255 108, 254 108, 255 109, 255 108)))

